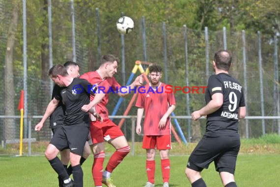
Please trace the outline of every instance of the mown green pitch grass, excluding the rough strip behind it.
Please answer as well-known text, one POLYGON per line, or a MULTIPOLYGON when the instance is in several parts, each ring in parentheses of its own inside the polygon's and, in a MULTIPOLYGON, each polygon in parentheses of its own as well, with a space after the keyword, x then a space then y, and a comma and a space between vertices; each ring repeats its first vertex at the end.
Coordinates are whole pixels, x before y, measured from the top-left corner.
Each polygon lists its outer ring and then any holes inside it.
MULTIPOLYGON (((107 163, 109 156, 106 156, 107 163)), ((170 187, 191 187, 184 171, 188 156, 170 156, 170 187)), ((84 187, 93 187, 90 156, 83 165, 84 187)), ((280 183, 280 156, 238 156, 235 179, 238 187, 277 187, 280 183)), ((105 166, 105 164, 104 164, 105 166)), ((142 187, 147 177, 145 156, 127 156, 112 173, 117 187, 142 187)), ((223 187, 212 163, 202 172, 207 187, 223 187)), ((57 187, 57 175, 44 156, 0 157, 1 187, 57 187)), ((156 187, 162 186, 159 156, 156 159, 156 187)))

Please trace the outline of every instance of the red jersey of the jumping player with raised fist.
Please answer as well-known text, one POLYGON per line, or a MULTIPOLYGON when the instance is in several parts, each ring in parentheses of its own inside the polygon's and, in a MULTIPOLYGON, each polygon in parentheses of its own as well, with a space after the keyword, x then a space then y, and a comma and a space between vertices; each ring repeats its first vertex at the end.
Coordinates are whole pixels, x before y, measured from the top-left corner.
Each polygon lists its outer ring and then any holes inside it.
MULTIPOLYGON (((115 80, 114 77, 112 78, 105 78, 102 80, 101 76, 99 75, 99 73, 97 71, 90 71, 87 73, 84 73, 82 76, 80 76, 81 79, 85 79, 87 80, 89 83, 91 83, 92 85, 97 85, 98 88, 102 88, 102 90, 105 93, 105 97, 102 99, 102 101, 100 101, 96 106, 95 106, 95 110, 96 112, 98 112, 100 114, 100 116, 103 119, 108 119, 108 109, 106 108, 107 103, 109 102, 109 89, 113 91, 119 90, 120 89, 120 85, 118 84, 118 82, 115 80), (108 93, 108 94, 106 94, 108 93)), ((98 91, 96 91, 96 93, 98 93, 98 91)), ((102 93, 102 92, 100 92, 102 93)), ((90 95, 90 101, 92 101, 94 99, 94 95, 90 95)), ((96 121, 96 118, 89 114, 89 117, 91 119, 91 121, 96 121)))

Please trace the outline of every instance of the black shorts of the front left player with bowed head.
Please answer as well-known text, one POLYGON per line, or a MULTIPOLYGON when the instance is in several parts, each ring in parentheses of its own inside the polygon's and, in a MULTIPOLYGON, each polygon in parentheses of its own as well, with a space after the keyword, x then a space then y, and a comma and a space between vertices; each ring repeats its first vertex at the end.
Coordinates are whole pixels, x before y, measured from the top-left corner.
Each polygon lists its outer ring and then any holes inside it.
POLYGON ((56 128, 55 132, 50 144, 56 146, 59 151, 70 149, 71 153, 83 155, 89 127, 61 125, 61 127, 56 128))

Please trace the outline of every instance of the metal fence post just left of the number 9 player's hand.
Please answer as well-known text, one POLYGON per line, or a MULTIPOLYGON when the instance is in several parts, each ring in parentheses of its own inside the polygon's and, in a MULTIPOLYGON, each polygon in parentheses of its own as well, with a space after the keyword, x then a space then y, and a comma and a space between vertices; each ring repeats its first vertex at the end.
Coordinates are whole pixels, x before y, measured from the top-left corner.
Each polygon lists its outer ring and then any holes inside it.
MULTIPOLYGON (((187 34, 187 26, 184 25, 184 41, 185 41, 185 80, 186 85, 189 86, 189 62, 188 62, 188 34, 187 34)), ((190 116, 190 95, 186 94, 186 107, 187 107, 187 115, 190 116)), ((191 120, 188 119, 188 141, 191 142, 192 139, 192 131, 191 131, 191 120)))

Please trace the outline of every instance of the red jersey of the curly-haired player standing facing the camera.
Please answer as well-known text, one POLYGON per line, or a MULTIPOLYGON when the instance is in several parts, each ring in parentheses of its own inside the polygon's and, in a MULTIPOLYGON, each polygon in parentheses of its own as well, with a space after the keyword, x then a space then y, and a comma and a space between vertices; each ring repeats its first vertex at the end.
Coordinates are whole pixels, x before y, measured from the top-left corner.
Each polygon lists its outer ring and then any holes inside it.
POLYGON ((175 105, 175 97, 173 92, 166 93, 166 84, 160 83, 157 90, 153 90, 150 85, 146 85, 144 89, 140 89, 136 106, 144 108, 144 135, 169 135, 171 134, 170 118, 167 118, 166 126, 159 129, 161 118, 167 112, 169 106, 175 105))

